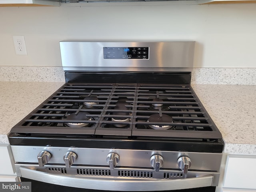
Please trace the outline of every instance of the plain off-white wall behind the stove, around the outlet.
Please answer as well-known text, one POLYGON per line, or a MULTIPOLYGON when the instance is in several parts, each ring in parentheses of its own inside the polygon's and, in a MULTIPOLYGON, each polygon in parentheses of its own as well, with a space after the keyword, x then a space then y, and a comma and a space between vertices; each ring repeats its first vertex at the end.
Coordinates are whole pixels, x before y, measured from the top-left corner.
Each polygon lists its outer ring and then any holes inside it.
POLYGON ((0 7, 0 66, 61 66, 60 40, 154 39, 195 40, 195 67, 256 67, 256 4, 109 5, 0 7))

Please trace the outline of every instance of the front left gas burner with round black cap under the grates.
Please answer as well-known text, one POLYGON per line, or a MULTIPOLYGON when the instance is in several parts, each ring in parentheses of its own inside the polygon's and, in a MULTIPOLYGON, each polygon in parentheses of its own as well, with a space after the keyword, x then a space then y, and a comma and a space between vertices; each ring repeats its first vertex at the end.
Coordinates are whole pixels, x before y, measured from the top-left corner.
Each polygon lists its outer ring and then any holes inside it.
MULTIPOLYGON (((90 113, 88 112, 79 112, 78 114, 76 113, 71 113, 67 116, 67 120, 88 120, 88 121, 91 121, 93 120, 93 118, 91 117, 88 117, 87 115, 90 115, 90 113)), ((66 123, 66 126, 69 126, 69 127, 86 127, 90 125, 90 123, 71 123, 71 122, 68 122, 66 123)))

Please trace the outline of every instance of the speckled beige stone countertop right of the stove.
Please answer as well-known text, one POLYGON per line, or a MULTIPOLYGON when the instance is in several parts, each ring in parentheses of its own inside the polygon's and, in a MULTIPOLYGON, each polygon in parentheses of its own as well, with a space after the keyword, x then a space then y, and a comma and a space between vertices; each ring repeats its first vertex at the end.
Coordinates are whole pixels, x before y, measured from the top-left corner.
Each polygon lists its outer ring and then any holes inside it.
POLYGON ((192 88, 222 133, 224 152, 256 154, 256 86, 193 84, 192 88))

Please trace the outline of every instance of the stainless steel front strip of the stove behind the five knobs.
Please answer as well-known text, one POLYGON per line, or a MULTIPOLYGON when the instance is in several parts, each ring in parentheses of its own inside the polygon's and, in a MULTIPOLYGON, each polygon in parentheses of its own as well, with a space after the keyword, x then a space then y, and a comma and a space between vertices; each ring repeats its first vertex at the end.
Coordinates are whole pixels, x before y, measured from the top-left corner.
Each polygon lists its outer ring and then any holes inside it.
MULTIPOLYGON (((156 154, 162 156, 163 164, 161 169, 180 169, 177 160, 181 156, 191 159, 189 170, 218 171, 222 159, 221 153, 198 153, 198 152, 177 152, 177 151, 158 151, 158 150, 124 150, 109 148, 76 148, 76 147, 52 147, 52 146, 12 146, 15 162, 36 163, 38 164, 38 154, 47 151, 51 154, 47 164, 65 164, 64 154, 74 152, 77 155, 74 165, 88 166, 108 166, 107 156, 110 153, 118 154, 120 167, 152 168, 150 158, 156 154), (204 163, 202 164, 202 160, 204 163)), ((153 168, 152 168, 153 169, 153 168)), ((154 170, 154 169, 153 169, 154 170)))

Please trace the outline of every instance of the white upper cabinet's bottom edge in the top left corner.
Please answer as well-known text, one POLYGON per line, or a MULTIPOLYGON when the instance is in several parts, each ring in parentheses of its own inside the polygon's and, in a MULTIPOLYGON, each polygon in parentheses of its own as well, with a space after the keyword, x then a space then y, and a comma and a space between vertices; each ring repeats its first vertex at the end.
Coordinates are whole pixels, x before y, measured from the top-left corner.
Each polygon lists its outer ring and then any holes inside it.
POLYGON ((0 7, 3 6, 60 6, 60 3, 50 0, 0 0, 0 7))

